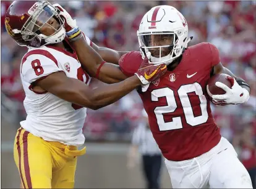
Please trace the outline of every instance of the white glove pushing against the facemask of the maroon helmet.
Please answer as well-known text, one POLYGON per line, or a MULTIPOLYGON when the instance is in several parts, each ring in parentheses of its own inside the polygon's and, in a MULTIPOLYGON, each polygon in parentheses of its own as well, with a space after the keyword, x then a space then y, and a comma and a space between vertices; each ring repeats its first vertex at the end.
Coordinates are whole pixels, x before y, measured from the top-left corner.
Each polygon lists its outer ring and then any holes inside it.
POLYGON ((59 15, 65 21, 64 28, 66 30, 67 36, 70 37, 73 34, 77 33, 79 31, 79 27, 77 26, 77 21, 73 20, 73 18, 70 16, 70 14, 67 12, 67 10, 65 10, 59 4, 53 4, 53 6, 56 7, 57 9, 59 9, 59 11, 60 11, 59 15))

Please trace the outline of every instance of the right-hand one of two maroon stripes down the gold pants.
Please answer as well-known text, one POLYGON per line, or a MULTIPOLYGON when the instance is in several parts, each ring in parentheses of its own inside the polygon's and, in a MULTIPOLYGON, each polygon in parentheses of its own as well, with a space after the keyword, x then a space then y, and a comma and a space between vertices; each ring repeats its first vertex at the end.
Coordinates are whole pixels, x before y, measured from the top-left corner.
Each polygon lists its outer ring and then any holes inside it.
POLYGON ((32 188, 31 176, 30 176, 30 168, 28 164, 28 134, 29 132, 25 131, 22 137, 23 142, 23 158, 24 158, 24 169, 25 176, 27 180, 28 188, 32 188))

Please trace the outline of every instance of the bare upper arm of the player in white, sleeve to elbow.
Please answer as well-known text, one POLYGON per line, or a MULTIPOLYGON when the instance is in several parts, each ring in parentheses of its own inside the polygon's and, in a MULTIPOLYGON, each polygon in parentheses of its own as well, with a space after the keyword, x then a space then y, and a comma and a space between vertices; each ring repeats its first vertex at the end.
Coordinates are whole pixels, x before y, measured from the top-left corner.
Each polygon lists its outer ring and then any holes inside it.
POLYGON ((93 96, 92 90, 82 81, 67 77, 62 71, 49 74, 46 78, 38 81, 36 86, 67 102, 83 107, 92 107, 90 100, 90 97, 93 96))

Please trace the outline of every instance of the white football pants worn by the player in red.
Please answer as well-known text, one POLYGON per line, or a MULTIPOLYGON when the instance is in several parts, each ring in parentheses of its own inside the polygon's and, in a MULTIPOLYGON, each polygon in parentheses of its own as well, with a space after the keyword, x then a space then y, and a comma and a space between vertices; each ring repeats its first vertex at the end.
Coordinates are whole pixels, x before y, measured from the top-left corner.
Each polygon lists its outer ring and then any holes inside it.
POLYGON ((207 153, 165 164, 173 188, 252 188, 250 175, 237 158, 233 145, 221 138, 207 153))

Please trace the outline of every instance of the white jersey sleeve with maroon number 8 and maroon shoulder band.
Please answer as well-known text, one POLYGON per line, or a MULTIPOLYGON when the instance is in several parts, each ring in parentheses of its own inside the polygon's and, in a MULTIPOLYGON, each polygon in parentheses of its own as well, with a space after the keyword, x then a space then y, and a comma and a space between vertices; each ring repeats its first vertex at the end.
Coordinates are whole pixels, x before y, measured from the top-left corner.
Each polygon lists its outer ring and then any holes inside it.
POLYGON ((49 74, 63 71, 58 66, 58 61, 46 50, 28 52, 22 58, 21 73, 23 79, 29 83, 46 78, 49 74), (40 54, 36 54, 40 52, 40 54))

